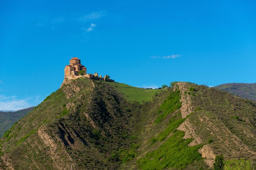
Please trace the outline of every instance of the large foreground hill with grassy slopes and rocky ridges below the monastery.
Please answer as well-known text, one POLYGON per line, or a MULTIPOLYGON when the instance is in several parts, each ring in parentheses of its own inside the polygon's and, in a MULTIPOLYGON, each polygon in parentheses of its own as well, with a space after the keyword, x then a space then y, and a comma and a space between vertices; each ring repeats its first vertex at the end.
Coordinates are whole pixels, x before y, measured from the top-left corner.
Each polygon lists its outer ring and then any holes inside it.
POLYGON ((2 169, 208 169, 256 159, 256 102, 178 82, 66 81, 5 133, 2 169), (30 161, 27 161, 30 160, 30 161))

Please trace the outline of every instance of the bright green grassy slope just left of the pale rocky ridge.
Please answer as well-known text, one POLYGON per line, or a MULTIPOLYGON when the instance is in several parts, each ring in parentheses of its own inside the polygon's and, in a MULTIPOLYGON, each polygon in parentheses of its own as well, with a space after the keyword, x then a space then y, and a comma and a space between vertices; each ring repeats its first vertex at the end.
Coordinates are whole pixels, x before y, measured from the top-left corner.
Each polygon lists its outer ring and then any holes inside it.
MULTIPOLYGON (((136 157, 125 168, 192 169, 207 168, 198 149, 202 145, 187 146, 193 139, 183 139, 183 131, 176 128, 186 119, 181 118, 180 92, 172 89, 157 95, 153 102, 141 106, 137 117, 136 157)), ((134 123, 134 122, 133 122, 134 123)))

